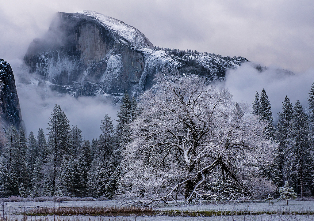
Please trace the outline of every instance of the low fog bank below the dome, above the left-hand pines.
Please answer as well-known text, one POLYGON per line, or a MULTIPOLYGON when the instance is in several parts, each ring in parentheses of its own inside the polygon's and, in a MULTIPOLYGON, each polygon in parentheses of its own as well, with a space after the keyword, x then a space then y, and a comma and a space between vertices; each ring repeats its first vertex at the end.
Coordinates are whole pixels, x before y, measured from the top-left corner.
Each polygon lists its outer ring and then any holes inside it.
POLYGON ((43 128, 45 134, 49 132, 46 127, 55 104, 61 106, 71 128, 78 125, 82 130, 83 139, 89 141, 101 134, 100 124, 106 113, 111 116, 112 123, 116 124, 119 107, 113 106, 110 99, 102 97, 76 99, 69 94, 56 93, 47 87, 38 87, 34 79, 18 66, 14 65, 12 68, 27 135, 30 131, 37 135, 39 128, 43 128), (30 83, 25 84, 24 81, 30 83))

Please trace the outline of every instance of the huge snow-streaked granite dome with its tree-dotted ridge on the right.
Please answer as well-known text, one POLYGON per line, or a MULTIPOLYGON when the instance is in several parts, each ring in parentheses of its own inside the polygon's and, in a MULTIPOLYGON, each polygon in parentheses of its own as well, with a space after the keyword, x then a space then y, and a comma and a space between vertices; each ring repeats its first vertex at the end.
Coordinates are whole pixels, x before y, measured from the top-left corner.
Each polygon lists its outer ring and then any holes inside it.
POLYGON ((138 95, 158 71, 178 69, 223 80, 241 57, 160 50, 138 30, 92 11, 59 12, 43 39, 34 39, 24 57, 31 73, 51 89, 78 96, 138 95))

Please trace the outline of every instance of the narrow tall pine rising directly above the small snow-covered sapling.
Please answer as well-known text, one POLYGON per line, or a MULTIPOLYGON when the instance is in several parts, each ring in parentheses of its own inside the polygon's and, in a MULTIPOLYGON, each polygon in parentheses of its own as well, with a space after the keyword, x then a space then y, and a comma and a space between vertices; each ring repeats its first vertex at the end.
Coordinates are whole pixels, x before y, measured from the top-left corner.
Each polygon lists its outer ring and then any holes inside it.
MULTIPOLYGON (((282 106, 282 112, 278 114, 278 123, 276 128, 276 140, 278 141, 278 155, 276 161, 278 162, 279 170, 283 171, 284 168, 284 151, 288 145, 288 129, 290 120, 292 118, 292 104, 290 99, 286 96, 282 106)), ((286 180, 285 175, 281 176, 282 180, 286 180), (283 177, 284 176, 284 177, 283 177)), ((283 185, 283 184, 282 184, 283 185)))

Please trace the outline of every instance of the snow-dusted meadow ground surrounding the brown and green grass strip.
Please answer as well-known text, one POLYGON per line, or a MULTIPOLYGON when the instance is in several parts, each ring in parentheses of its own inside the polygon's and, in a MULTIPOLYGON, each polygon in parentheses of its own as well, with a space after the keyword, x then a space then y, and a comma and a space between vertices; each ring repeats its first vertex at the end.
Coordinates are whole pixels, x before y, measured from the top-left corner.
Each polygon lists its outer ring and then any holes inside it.
MULTIPOLYGON (((62 216, 62 221, 198 221, 198 220, 276 220, 276 221, 314 221, 314 201, 289 201, 289 206, 285 205, 285 202, 273 202, 274 204, 269 206, 268 203, 265 202, 257 202, 257 203, 225 203, 225 204, 207 204, 202 206, 174 206, 174 205, 164 205, 162 208, 158 208, 158 210, 162 211, 250 211, 250 212, 298 212, 298 213, 308 213, 307 215, 278 215, 278 214, 260 214, 260 215, 232 215, 232 216, 211 216, 211 217, 169 217, 169 216, 154 216, 154 217, 89 217, 89 216, 62 216), (309 214, 310 213, 310 214, 309 214)), ((10 214, 10 219, 18 218, 19 220, 22 218, 20 213, 23 213, 24 210, 27 212, 35 207, 81 207, 81 206, 119 206, 116 201, 99 201, 99 202, 1 202, 0 211, 1 216, 7 216, 10 214)), ((53 216, 47 216, 49 220, 53 221, 53 216)), ((60 218, 60 217, 59 217, 60 218)), ((33 216, 29 220, 35 220, 33 216)), ((46 219, 46 221, 48 221, 46 219)))

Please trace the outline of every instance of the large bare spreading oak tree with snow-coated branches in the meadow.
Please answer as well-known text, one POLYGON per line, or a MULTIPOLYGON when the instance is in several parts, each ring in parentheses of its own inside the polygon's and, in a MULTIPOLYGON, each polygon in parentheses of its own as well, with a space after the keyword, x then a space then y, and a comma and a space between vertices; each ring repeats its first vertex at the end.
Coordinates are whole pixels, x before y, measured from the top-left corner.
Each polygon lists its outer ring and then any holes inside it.
POLYGON ((157 77, 139 103, 132 142, 124 153, 125 196, 142 205, 202 199, 263 197, 272 189, 257 177, 262 158, 271 160, 274 144, 263 135, 265 123, 247 115, 248 105, 233 103, 224 88, 199 77, 157 77), (221 171, 237 191, 209 187, 221 171))

